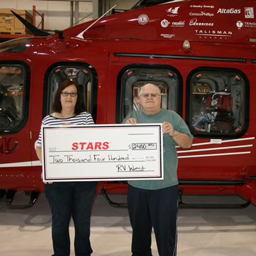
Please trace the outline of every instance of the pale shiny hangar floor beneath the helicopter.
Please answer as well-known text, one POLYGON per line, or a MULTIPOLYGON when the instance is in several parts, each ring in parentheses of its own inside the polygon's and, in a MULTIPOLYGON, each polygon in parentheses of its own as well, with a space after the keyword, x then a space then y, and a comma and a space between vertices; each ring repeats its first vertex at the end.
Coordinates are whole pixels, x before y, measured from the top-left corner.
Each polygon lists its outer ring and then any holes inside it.
MULTIPOLYGON (((125 202, 125 195, 112 195, 115 202, 125 202)), ((243 203, 234 196, 202 196, 200 203, 243 203)), ((33 207, 10 209, 0 200, 0 255, 46 256, 52 254, 51 212, 44 193, 33 207)), ((24 193, 16 193, 14 204, 28 200, 24 193)), ((186 201, 195 202, 196 196, 186 201)), ((179 209, 179 256, 256 255, 256 207, 244 209, 179 209)), ((70 237, 74 240, 74 225, 70 223, 70 237)), ((153 236, 154 237, 154 236, 153 236)), ((131 226, 127 209, 108 205, 102 195, 95 199, 91 220, 93 256, 131 255, 131 226)), ((152 242, 157 256, 156 242, 152 242)), ((74 256, 74 247, 71 248, 74 256)))

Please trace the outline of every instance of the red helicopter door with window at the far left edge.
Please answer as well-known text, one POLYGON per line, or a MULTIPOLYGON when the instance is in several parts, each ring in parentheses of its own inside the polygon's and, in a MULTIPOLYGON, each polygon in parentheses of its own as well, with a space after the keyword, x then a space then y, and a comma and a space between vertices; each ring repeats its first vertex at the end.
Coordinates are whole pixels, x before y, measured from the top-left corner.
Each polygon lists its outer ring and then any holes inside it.
POLYGON ((26 190, 31 183, 29 81, 26 63, 0 63, 0 189, 26 190))

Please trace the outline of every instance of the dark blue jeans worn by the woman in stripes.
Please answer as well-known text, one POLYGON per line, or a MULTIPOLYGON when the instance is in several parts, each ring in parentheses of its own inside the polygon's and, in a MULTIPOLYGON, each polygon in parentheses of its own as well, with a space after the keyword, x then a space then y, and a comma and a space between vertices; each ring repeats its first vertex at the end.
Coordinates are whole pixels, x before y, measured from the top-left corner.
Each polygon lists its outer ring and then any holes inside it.
POLYGON ((75 227, 76 256, 90 256, 90 215, 97 182, 53 182, 45 184, 45 195, 52 212, 54 255, 70 255, 69 223, 75 227))

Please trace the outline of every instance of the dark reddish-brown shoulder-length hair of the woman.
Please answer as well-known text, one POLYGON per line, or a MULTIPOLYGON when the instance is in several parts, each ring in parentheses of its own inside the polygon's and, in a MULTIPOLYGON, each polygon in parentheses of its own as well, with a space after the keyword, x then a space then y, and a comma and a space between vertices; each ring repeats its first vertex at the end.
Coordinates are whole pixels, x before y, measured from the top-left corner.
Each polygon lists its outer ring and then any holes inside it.
POLYGON ((79 90, 79 86, 77 86, 77 84, 74 81, 65 80, 60 84, 60 86, 55 94, 55 98, 54 98, 54 102, 53 102, 53 106, 52 106, 52 109, 54 112, 61 113, 61 109, 62 109, 61 102, 60 102, 61 92, 65 88, 67 88, 68 86, 73 85, 73 84, 74 84, 74 86, 76 86, 76 89, 77 89, 77 102, 76 102, 76 106, 75 106, 75 114, 78 115, 85 110, 83 108, 83 99, 82 99, 81 92, 79 90))

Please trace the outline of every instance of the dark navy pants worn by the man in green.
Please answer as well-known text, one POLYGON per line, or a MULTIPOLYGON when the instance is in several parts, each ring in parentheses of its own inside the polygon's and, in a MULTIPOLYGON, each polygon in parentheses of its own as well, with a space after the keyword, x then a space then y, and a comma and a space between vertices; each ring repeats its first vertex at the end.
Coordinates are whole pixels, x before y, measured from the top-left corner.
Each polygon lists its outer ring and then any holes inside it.
POLYGON ((159 255, 176 255, 178 186, 148 190, 129 185, 128 211, 132 226, 132 256, 152 256, 152 227, 159 255))

